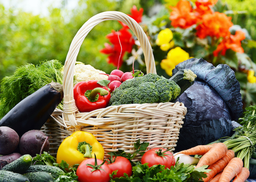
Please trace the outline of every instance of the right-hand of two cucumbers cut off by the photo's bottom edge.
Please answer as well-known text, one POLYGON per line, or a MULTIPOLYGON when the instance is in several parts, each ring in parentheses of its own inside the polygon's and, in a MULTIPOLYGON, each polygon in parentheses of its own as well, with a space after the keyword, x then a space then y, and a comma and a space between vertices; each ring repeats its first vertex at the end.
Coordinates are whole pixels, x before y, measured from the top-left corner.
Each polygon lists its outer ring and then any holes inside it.
POLYGON ((23 176, 27 177, 30 182, 53 182, 53 176, 44 171, 25 173, 23 176))

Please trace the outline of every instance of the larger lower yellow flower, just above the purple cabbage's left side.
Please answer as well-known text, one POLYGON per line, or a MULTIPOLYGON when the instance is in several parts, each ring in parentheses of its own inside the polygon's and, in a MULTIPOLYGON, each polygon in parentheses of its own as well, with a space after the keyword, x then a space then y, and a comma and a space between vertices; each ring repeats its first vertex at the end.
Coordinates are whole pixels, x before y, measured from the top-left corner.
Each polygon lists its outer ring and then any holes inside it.
POLYGON ((168 52, 167 59, 163 59, 160 66, 167 75, 172 76, 172 70, 175 66, 187 59, 189 59, 189 54, 180 47, 176 47, 168 52))

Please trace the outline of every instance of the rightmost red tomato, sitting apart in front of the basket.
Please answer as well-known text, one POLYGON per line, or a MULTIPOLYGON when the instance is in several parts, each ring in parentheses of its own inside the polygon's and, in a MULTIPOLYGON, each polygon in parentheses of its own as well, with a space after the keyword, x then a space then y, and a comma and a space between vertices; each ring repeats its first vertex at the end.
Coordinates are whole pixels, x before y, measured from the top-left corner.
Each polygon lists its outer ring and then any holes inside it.
POLYGON ((161 164, 165 166, 165 169, 166 167, 170 169, 171 166, 175 165, 176 161, 170 151, 165 151, 166 149, 162 148, 150 149, 143 154, 141 163, 148 163, 149 167, 161 164))

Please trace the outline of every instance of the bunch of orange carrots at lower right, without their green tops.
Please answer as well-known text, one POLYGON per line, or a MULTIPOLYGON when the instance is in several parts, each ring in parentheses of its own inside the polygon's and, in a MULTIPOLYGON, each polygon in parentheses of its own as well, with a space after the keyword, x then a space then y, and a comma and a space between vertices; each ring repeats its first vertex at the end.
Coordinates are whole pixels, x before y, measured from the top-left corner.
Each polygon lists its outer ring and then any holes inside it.
POLYGON ((199 145, 177 154, 202 155, 196 165, 201 167, 207 165, 211 171, 203 178, 204 182, 244 182, 249 177, 249 170, 244 166, 242 159, 235 157, 233 150, 228 150, 224 143, 213 143, 211 145, 199 145))

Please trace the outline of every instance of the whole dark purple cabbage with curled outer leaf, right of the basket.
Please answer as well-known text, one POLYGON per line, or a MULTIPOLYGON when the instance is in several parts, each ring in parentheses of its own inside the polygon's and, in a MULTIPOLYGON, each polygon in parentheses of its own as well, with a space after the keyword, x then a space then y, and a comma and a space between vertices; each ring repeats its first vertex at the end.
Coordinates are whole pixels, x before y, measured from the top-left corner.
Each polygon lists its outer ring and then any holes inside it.
POLYGON ((234 71, 226 64, 214 67, 202 58, 185 60, 175 67, 173 74, 181 69, 192 70, 197 78, 177 99, 188 112, 175 151, 230 136, 232 120, 238 120, 243 113, 240 84, 234 71))

